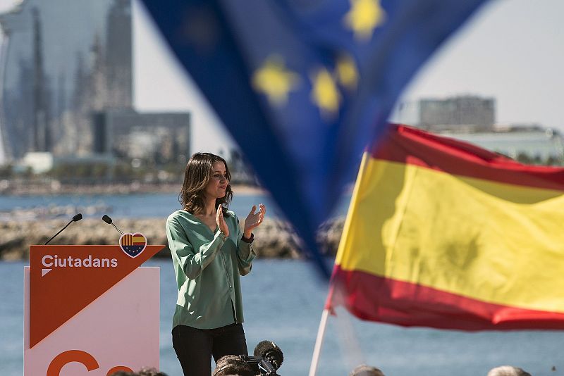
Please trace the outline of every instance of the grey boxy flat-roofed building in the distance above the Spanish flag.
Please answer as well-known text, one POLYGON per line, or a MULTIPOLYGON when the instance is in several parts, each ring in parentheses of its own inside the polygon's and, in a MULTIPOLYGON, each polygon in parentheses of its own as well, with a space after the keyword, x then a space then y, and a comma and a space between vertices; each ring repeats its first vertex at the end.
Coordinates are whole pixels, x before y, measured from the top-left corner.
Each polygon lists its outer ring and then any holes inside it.
POLYGON ((496 122, 496 100, 479 96, 419 99, 399 104, 393 120, 434 131, 489 131, 496 122))

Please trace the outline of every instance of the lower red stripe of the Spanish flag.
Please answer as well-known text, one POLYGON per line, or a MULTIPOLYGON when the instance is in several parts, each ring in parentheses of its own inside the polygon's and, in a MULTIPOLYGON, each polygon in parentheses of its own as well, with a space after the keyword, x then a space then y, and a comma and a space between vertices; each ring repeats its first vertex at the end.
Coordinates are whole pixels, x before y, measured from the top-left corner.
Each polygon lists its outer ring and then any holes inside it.
POLYGON ((333 270, 326 308, 345 306, 362 320, 458 330, 564 329, 564 314, 486 303, 439 289, 333 270), (338 294, 342 287, 343 294, 338 294), (342 296, 342 297, 341 297, 342 296))

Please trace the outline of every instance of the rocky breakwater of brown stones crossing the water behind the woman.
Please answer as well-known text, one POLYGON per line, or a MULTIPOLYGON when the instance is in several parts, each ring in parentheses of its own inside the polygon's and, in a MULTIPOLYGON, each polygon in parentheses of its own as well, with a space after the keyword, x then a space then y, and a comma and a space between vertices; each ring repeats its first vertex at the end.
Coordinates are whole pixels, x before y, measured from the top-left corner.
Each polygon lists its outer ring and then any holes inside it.
MULTIPOLYGON (((164 230, 166 218, 116 219, 123 232, 145 234, 149 244, 168 244, 164 230)), ((241 221, 243 222, 243 221, 241 221)), ((68 220, 5 220, 0 222, 0 260, 15 261, 29 258, 31 244, 44 244, 61 230, 68 220)), ((336 253, 344 218, 330 220, 317 233, 317 241, 324 254, 336 253)), ((73 223, 49 244, 118 244, 120 234, 99 218, 85 218, 73 223)), ((255 229, 255 251, 262 258, 300 258, 300 239, 288 223, 266 219, 255 229)), ((166 246, 157 257, 170 257, 166 246)))

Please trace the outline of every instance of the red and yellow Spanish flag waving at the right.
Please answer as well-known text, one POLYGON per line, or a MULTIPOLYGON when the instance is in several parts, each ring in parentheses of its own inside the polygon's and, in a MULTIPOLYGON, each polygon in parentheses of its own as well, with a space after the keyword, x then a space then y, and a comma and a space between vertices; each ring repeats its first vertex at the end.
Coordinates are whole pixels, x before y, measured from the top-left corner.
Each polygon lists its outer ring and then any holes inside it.
POLYGON ((392 125, 364 153, 326 308, 460 330, 564 329, 564 168, 392 125))

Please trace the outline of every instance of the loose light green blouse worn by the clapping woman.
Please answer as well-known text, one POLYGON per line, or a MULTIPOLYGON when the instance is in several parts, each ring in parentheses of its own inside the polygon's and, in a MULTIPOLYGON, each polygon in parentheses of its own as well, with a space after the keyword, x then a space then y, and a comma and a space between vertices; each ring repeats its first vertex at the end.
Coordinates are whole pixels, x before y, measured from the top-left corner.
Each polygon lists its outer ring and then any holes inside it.
POLYGON ((243 322, 239 275, 251 271, 252 243, 243 242, 237 215, 223 215, 229 236, 210 228, 188 211, 175 211, 166 220, 178 299, 173 327, 214 329, 243 322))

